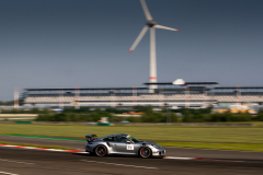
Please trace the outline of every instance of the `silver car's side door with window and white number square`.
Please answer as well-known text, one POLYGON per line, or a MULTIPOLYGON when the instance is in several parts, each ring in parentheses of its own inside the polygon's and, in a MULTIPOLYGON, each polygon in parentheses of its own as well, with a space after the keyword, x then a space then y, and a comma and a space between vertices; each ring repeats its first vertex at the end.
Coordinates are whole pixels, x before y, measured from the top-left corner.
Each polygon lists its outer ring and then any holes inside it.
POLYGON ((135 154, 134 143, 127 142, 130 141, 126 137, 117 136, 114 139, 114 150, 119 153, 135 154))

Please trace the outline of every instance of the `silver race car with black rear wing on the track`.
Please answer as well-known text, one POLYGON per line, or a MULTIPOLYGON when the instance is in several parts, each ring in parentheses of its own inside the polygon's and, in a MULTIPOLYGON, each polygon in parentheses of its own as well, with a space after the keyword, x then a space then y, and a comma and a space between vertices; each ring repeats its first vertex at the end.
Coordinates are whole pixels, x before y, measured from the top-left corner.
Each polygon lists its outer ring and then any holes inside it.
POLYGON ((129 154, 141 158, 162 158, 165 156, 165 150, 152 142, 140 141, 129 135, 117 133, 102 138, 96 135, 87 135, 85 152, 98 156, 107 154, 129 154))

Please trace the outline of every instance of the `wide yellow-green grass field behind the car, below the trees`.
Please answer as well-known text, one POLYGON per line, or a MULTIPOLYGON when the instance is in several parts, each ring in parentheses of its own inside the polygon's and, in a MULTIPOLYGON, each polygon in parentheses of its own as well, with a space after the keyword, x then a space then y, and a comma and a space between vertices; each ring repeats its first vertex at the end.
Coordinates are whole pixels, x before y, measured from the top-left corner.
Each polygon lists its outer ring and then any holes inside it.
POLYGON ((263 151, 263 127, 85 126, 0 124, 0 135, 83 138, 129 133, 167 147, 263 151))

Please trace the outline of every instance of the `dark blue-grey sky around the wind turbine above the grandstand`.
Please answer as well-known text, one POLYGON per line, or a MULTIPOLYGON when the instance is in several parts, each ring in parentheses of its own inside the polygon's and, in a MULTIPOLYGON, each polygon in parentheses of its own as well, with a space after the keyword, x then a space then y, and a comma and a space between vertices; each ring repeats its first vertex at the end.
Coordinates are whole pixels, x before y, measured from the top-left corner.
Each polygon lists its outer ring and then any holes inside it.
MULTIPOLYGON (((262 0, 146 0, 159 82, 263 85, 262 0)), ((141 86, 149 32, 139 0, 1 0, 0 101, 13 89, 141 86)))

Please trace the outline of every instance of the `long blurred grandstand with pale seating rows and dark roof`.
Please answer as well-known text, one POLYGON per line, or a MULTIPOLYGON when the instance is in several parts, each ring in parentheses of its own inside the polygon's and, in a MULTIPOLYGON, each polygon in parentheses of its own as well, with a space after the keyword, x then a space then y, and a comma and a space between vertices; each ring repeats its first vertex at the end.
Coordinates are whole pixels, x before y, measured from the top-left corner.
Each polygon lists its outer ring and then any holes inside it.
MULTIPOLYGON (((175 81, 176 82, 176 81, 175 81)), ((24 106, 30 107, 82 107, 130 108, 151 105, 155 108, 229 106, 253 103, 263 104, 263 86, 218 86, 218 82, 146 82, 132 88, 71 88, 25 89, 24 106), (150 85, 156 85, 153 93, 150 85), (78 97, 76 97, 78 96, 78 97)))

